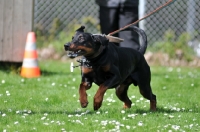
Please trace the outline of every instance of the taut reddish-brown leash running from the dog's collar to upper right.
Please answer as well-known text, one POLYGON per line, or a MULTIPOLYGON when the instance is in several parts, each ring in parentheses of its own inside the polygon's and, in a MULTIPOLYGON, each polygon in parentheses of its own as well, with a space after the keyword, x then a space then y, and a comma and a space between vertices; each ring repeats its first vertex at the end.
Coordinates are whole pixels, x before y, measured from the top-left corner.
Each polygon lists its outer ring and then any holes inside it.
POLYGON ((130 26, 132 26, 132 25, 135 25, 136 23, 138 23, 138 22, 140 22, 140 21, 146 19, 147 17, 151 16, 152 14, 158 12, 158 11, 161 10, 162 8, 168 6, 169 4, 171 4, 172 2, 175 2, 175 1, 176 1, 176 0, 169 0, 169 1, 166 2, 165 4, 161 5, 160 7, 156 8, 154 11, 150 12, 149 14, 147 14, 146 16, 144 16, 144 17, 140 18, 139 20, 137 20, 137 21, 135 21, 135 22, 133 22, 133 23, 131 23, 131 24, 129 24, 129 25, 126 25, 126 26, 124 26, 124 27, 122 27, 122 28, 120 28, 120 29, 118 29, 118 30, 116 30, 116 31, 114 31, 114 32, 109 33, 107 36, 111 36, 111 35, 113 35, 113 34, 119 33, 120 31, 125 30, 126 28, 128 28, 128 27, 130 27, 130 26))

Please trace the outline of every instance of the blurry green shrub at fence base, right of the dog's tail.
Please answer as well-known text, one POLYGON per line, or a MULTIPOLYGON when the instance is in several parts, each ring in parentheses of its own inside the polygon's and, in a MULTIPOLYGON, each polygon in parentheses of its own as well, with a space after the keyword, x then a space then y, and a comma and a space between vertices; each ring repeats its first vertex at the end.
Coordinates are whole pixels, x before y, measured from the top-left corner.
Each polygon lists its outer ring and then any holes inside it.
POLYGON ((173 30, 168 30, 163 35, 162 41, 155 42, 150 50, 153 52, 167 53, 172 59, 184 59, 191 61, 194 56, 194 51, 188 46, 190 35, 188 33, 182 33, 177 39, 175 39, 175 33, 173 30), (178 56, 178 54, 181 56, 178 56))

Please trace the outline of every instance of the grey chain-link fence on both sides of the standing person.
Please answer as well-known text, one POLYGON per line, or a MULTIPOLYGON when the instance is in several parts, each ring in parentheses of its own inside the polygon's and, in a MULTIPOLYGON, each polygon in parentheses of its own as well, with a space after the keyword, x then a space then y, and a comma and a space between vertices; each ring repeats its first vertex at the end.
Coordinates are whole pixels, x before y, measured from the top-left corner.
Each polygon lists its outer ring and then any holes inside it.
MULTIPOLYGON (((140 17, 167 1, 140 0, 140 17)), ((57 33, 68 30, 69 25, 73 24, 84 24, 87 32, 99 33, 98 10, 95 0, 35 0, 34 28, 40 25, 44 31, 48 31, 56 18, 60 21, 57 33)), ((200 48, 200 2, 176 0, 140 22, 140 26, 146 31, 149 44, 162 40, 163 34, 171 29, 176 37, 184 32, 189 33, 192 36, 190 44, 200 48)))

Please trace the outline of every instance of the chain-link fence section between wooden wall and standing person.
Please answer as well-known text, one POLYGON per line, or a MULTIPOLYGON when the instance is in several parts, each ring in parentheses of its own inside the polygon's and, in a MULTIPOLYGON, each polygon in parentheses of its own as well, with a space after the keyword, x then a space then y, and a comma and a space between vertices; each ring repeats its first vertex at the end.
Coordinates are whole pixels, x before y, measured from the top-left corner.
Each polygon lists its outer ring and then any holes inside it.
POLYGON ((98 28, 94 27, 98 26, 98 6, 94 0, 35 0, 35 29, 42 27, 48 31, 55 19, 60 23, 57 33, 66 31, 73 24, 86 24, 88 32, 97 32, 98 28), (88 21, 93 25, 88 24, 88 21))

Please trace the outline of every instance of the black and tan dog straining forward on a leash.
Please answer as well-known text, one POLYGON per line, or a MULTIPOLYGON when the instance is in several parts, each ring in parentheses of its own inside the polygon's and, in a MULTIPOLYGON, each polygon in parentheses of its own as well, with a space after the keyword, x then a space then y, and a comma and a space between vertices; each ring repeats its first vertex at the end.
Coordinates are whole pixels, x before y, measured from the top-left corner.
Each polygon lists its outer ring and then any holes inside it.
POLYGON ((147 47, 146 34, 140 28, 132 26, 129 30, 136 31, 142 38, 140 49, 122 48, 109 42, 105 35, 93 35, 84 32, 84 26, 76 30, 72 41, 65 44, 68 56, 83 56, 81 62, 82 82, 79 88, 80 103, 87 107, 87 93, 94 82, 99 86, 94 96, 94 110, 98 110, 106 90, 116 89, 117 97, 124 102, 124 108, 131 107, 127 96, 130 84, 139 86, 140 93, 150 100, 150 110, 156 110, 156 96, 152 93, 150 68, 143 56, 147 47))

